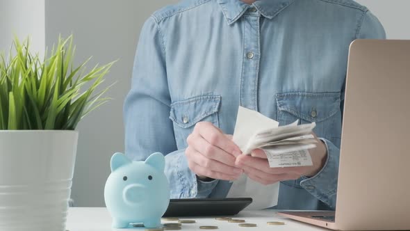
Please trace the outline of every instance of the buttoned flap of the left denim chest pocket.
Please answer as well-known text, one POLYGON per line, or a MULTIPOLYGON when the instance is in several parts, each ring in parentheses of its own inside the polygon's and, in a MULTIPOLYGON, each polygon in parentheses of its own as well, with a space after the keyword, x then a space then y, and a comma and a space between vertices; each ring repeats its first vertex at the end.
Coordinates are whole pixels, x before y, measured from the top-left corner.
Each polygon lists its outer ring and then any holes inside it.
POLYGON ((217 113, 220 102, 220 95, 202 95, 173 102, 170 119, 179 127, 191 127, 207 116, 217 113))

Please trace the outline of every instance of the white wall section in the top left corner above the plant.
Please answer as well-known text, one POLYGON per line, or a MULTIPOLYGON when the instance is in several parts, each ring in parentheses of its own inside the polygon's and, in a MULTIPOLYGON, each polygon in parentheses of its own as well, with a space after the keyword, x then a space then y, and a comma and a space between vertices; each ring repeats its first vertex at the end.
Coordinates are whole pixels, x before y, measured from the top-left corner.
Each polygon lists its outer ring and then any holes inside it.
POLYGON ((0 0, 0 51, 8 52, 15 35, 31 35, 31 50, 44 54, 44 0, 0 0))

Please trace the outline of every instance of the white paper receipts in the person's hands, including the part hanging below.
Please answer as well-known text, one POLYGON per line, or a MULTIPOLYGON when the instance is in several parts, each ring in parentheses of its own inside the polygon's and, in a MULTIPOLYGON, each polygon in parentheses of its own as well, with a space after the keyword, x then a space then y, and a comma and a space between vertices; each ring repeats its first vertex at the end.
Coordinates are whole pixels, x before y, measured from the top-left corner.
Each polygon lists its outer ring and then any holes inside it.
MULTIPOLYGON (((308 150, 315 148, 312 129, 315 123, 279 127, 279 122, 240 106, 236 119, 233 142, 243 154, 262 149, 271 168, 312 166, 308 150)), ((279 183, 263 185, 243 174, 232 183, 227 198, 252 198, 250 210, 266 209, 277 205, 279 183)))

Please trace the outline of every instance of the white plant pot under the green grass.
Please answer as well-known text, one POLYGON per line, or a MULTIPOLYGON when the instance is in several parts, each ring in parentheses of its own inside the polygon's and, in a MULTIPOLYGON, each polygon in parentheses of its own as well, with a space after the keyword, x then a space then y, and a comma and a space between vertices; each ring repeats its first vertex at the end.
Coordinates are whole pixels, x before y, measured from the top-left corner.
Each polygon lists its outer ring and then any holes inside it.
POLYGON ((0 230, 63 231, 78 132, 0 131, 0 230))

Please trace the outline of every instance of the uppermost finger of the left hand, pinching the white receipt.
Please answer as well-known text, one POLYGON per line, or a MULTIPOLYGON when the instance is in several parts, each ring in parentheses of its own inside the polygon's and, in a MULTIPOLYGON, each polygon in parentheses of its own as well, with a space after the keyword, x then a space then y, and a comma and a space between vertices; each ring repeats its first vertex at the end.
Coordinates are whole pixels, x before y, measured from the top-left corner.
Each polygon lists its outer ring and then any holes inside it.
POLYGON ((233 141, 225 136, 220 129, 213 126, 211 122, 198 122, 195 125, 194 133, 202 136, 208 143, 216 146, 234 157, 238 157, 242 152, 233 141))

